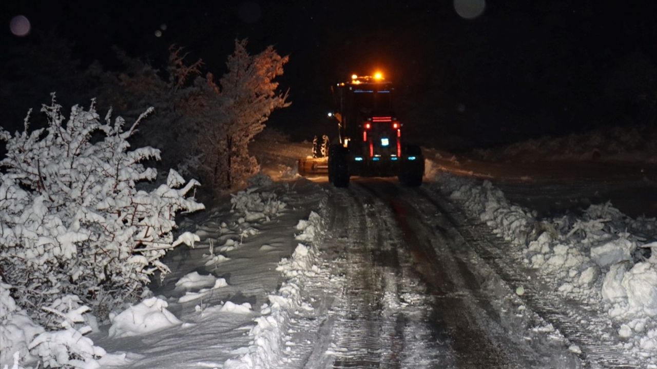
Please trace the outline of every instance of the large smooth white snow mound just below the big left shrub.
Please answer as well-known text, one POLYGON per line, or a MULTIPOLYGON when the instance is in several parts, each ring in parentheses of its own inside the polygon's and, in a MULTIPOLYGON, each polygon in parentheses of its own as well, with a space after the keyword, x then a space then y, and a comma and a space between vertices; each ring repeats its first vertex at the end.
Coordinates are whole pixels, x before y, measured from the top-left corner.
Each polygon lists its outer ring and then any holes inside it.
POLYGON ((169 304, 157 297, 150 297, 128 307, 118 315, 110 314, 110 337, 139 336, 156 330, 182 324, 166 308, 169 304))

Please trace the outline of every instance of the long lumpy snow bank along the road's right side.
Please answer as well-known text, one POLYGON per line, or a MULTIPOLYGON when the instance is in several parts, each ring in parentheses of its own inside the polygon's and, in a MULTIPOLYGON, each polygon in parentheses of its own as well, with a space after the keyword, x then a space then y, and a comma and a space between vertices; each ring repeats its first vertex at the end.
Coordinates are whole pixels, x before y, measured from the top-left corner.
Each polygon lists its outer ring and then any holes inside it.
POLYGON ((516 246, 519 259, 558 293, 602 307, 629 353, 657 360, 657 242, 649 242, 657 237, 657 219, 630 219, 607 203, 579 217, 539 220, 489 181, 441 174, 438 182, 516 246))

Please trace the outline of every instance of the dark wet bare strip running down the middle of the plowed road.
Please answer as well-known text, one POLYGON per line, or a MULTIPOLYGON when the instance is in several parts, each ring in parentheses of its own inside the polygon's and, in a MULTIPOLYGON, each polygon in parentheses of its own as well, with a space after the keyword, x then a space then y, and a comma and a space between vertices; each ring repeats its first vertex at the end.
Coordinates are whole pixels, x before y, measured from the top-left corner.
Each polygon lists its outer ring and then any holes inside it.
MULTIPOLYGON (((384 201, 396 213, 396 222, 404 234, 406 247, 413 255, 415 269, 430 286, 433 299, 431 324, 439 341, 447 343, 450 354, 443 358, 447 368, 524 368, 509 357, 499 340, 491 336, 489 319, 475 293, 468 290, 466 279, 455 269, 456 259, 447 250, 447 234, 436 232, 405 203, 403 188, 389 181, 359 183, 365 190, 384 201), (413 223, 413 224, 411 224, 413 223), (484 315, 486 315, 484 313, 484 315)), ((487 307, 487 305, 483 305, 487 307)), ((443 366, 444 365, 444 366, 443 366)))

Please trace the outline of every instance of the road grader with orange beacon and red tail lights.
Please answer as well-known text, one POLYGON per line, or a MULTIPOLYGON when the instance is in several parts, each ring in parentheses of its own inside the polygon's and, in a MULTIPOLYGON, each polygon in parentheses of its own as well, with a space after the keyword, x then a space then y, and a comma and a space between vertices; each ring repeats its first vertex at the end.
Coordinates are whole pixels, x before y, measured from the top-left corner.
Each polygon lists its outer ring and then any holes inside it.
POLYGON ((351 176, 398 177, 403 185, 421 185, 424 156, 419 146, 402 141, 392 82, 380 73, 353 75, 332 92, 335 110, 328 116, 338 123, 338 137, 328 146, 328 158, 299 160, 299 173, 328 174, 336 187, 348 186, 351 176))

